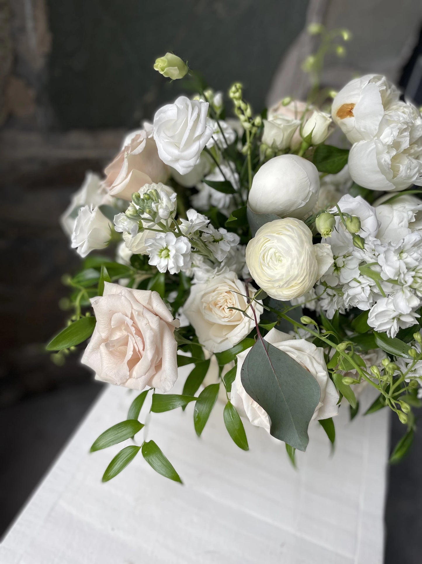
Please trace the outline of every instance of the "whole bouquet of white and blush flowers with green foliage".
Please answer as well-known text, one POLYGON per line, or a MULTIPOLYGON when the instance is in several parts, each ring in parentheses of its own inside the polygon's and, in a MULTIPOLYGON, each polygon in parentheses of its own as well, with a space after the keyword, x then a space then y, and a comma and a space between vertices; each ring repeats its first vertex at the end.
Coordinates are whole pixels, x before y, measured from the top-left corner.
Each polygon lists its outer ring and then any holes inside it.
MULTIPOLYGON (((62 217, 84 260, 65 280, 68 327, 47 349, 60 362, 91 337, 82 363, 140 392, 91 450, 134 439, 147 398, 150 413, 194 403, 201 435, 223 395, 237 447, 248 450, 244 417, 294 463, 311 420, 334 443, 339 408, 354 417, 366 385, 378 392, 366 413, 388 407, 405 426, 391 457, 400 460, 422 396, 419 110, 370 74, 256 114, 240 83, 225 101, 172 53, 154 68, 197 94, 129 133, 62 217), (115 259, 90 254, 107 246, 115 259)), ((103 480, 139 451, 181 481, 153 440, 125 446, 103 480)))

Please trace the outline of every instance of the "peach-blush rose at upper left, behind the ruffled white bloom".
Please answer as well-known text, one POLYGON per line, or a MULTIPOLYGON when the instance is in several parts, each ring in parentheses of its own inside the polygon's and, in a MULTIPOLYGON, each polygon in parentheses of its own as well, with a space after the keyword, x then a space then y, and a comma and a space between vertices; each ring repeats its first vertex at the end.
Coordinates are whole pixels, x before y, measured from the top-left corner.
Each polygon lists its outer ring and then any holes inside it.
POLYGON ((111 196, 131 200, 132 193, 144 184, 168 179, 169 171, 158 156, 150 125, 144 127, 147 130, 132 131, 125 137, 122 149, 104 171, 104 184, 111 196))

